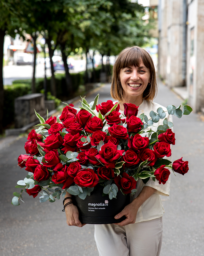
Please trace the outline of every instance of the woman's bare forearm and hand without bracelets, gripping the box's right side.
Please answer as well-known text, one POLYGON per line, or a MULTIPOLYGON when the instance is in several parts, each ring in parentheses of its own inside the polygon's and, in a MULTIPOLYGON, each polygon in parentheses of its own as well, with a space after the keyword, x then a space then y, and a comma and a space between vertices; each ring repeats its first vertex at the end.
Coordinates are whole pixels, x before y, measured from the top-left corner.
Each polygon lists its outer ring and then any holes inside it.
POLYGON ((115 225, 125 226, 135 223, 139 207, 144 203, 144 201, 146 201, 151 195, 153 195, 155 191, 156 189, 153 189, 151 187, 143 187, 138 197, 133 199, 133 201, 129 205, 125 206, 125 208, 115 216, 115 219, 126 216, 126 219, 124 221, 121 221, 120 223, 115 223, 115 225))

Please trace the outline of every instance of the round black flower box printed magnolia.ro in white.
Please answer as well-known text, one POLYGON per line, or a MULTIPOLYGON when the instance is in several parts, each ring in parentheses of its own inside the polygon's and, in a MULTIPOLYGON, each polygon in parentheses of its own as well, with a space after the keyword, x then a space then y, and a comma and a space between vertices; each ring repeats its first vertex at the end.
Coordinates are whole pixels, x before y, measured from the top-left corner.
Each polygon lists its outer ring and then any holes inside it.
POLYGON ((103 186, 96 185, 90 196, 84 200, 75 196, 75 204, 79 210, 79 220, 87 224, 110 224, 119 223, 125 220, 125 216, 115 219, 114 216, 120 213, 129 204, 129 195, 123 195, 119 190, 116 198, 110 200, 109 196, 102 196, 103 186))

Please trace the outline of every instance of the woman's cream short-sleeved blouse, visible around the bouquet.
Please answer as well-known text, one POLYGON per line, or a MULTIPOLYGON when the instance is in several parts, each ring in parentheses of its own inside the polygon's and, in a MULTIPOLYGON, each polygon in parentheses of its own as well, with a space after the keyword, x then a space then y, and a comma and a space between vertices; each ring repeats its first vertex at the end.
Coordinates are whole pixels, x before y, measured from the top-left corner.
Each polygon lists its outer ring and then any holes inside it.
MULTIPOLYGON (((160 104, 143 100, 142 104, 140 104, 140 106, 138 108, 137 116, 144 113, 149 119, 150 118, 150 116, 149 116, 150 111, 153 110, 154 112, 156 112, 157 109, 160 108, 160 107, 163 108, 164 111, 167 111, 167 109, 164 108, 163 106, 161 106, 160 104)), ((124 112, 121 111, 121 110, 119 110, 119 112, 121 114, 124 114, 124 112)), ((166 112, 166 118, 170 122, 173 121, 172 116, 169 115, 168 112, 166 112)), ((154 126, 151 126, 151 129, 156 132, 157 127, 159 125, 163 125, 163 120, 164 119, 160 119, 158 123, 154 123, 153 124, 154 126)), ((146 133, 142 134, 142 136, 145 136, 145 135, 146 135, 146 133)), ((170 157, 164 157, 164 158, 171 161, 171 156, 170 157)), ((171 172, 171 169, 170 169, 170 172, 171 172)), ((138 209, 138 212, 137 212, 137 217, 136 217, 135 223, 141 222, 141 221, 149 221, 149 220, 156 219, 156 218, 159 218, 159 217, 163 216, 164 207, 163 207, 160 195, 169 196, 170 181, 171 181, 171 175, 169 176, 168 181, 164 185, 159 184, 159 182, 157 180, 152 181, 152 179, 149 179, 149 181, 146 184, 144 184, 142 180, 137 181, 137 185, 136 185, 137 192, 134 194, 134 196, 130 196, 131 201, 139 195, 139 193, 141 192, 141 190, 144 186, 152 187, 152 188, 156 189, 156 192, 152 196, 150 196, 140 206, 140 208, 138 209)))

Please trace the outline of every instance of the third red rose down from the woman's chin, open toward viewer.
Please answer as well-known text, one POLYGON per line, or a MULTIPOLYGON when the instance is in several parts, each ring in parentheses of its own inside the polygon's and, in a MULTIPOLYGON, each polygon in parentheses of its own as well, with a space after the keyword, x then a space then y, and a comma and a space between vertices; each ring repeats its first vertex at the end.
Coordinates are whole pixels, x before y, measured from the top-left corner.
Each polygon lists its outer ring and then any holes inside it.
POLYGON ((134 137, 132 136, 130 139, 128 139, 128 147, 135 151, 146 148, 148 144, 149 138, 142 137, 140 134, 136 134, 134 137))

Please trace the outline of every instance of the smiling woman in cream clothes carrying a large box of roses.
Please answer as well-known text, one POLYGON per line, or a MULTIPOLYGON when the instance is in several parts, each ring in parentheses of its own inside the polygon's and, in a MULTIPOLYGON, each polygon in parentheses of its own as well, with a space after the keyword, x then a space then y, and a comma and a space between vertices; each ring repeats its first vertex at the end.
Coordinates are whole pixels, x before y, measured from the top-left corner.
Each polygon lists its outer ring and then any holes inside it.
MULTIPOLYGON (((121 51, 113 67, 111 96, 119 101, 120 112, 123 103, 132 103, 141 113, 150 118, 151 110, 162 107, 153 103, 156 94, 156 74, 150 55, 142 48, 133 46, 121 51)), ((164 111, 166 110, 162 107, 164 111)), ((172 117, 167 114, 168 121, 172 117)), ((163 120, 154 124, 153 130, 163 124, 163 120)), ((151 127, 152 128, 152 127, 151 127)), ((145 135, 144 135, 145 136, 145 135)), ((170 177, 166 184, 151 179, 144 185, 137 181, 137 193, 132 201, 120 213, 117 219, 126 216, 120 223, 95 225, 95 241, 100 256, 159 256, 162 244, 162 216, 164 208, 160 195, 169 196, 170 177)), ((67 193, 68 197, 71 197, 67 193)), ((68 202, 71 199, 67 199, 68 202)), ((66 203, 65 202, 65 203, 66 203)), ((76 206, 70 204, 65 208, 67 224, 82 227, 76 206)))

